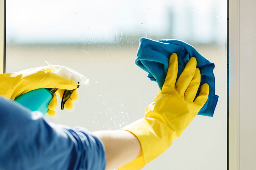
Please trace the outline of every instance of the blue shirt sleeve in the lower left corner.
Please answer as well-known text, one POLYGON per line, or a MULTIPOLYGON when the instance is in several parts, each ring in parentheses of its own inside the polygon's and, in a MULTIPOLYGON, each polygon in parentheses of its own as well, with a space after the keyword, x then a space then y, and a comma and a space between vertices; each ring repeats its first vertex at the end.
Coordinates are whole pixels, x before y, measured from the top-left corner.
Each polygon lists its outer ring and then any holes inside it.
POLYGON ((105 148, 88 130, 48 123, 0 97, 1 170, 104 170, 105 148))

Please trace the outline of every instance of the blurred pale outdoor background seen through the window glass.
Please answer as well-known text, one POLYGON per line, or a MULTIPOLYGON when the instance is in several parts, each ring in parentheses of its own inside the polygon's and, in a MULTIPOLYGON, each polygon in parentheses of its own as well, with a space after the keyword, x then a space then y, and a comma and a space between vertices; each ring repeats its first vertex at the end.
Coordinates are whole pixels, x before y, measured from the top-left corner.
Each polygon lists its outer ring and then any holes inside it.
POLYGON ((145 170, 226 169, 226 1, 8 0, 6 73, 70 67, 90 79, 71 111, 46 119, 91 131, 116 130, 144 116, 158 92, 134 64, 139 38, 178 39, 215 63, 213 118, 198 115, 145 170))

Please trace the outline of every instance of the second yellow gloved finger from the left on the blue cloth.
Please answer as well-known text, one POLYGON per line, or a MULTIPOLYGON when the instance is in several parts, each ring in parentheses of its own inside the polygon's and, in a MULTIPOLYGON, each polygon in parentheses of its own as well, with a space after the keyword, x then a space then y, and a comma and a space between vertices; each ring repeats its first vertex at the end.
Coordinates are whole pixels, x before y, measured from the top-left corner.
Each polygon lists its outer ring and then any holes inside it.
POLYGON ((184 68, 183 72, 181 73, 175 85, 176 91, 180 97, 184 96, 188 85, 190 84, 192 78, 194 77, 194 73, 196 72, 196 65, 197 65, 196 58, 191 57, 186 67, 184 68))

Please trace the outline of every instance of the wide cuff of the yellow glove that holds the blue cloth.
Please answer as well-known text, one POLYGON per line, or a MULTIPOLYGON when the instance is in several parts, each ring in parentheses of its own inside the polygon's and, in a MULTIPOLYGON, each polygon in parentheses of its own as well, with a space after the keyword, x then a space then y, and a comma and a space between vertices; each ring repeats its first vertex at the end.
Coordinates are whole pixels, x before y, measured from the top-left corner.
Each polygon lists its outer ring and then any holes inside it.
POLYGON ((168 149, 178 136, 165 124, 153 118, 139 119, 122 128, 135 135, 142 148, 142 156, 119 167, 119 170, 138 170, 168 149))

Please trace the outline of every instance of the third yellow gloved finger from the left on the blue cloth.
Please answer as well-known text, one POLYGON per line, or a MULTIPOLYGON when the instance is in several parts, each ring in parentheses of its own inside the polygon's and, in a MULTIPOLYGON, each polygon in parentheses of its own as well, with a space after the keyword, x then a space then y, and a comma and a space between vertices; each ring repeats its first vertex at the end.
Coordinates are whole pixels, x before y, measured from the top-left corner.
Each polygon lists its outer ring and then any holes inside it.
POLYGON ((192 78, 190 84, 188 85, 188 88, 184 95, 184 100, 188 102, 193 102, 194 98, 196 97, 197 90, 199 88, 201 82, 201 73, 199 68, 196 68, 196 72, 194 74, 194 77, 192 78))

